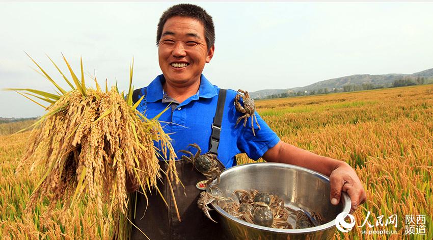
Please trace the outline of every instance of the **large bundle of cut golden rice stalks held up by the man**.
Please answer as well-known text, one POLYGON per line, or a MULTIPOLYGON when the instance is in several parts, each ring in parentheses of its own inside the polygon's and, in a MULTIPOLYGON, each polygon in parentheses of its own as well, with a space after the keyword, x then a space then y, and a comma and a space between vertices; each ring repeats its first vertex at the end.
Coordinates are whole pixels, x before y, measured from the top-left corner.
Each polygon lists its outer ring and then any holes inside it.
MULTIPOLYGON (((66 211, 77 201, 86 198, 96 203, 97 214, 101 218, 106 216, 105 224, 114 223, 112 233, 120 237, 125 231, 119 227, 121 222, 129 221, 126 221, 127 178, 133 184, 138 183, 143 190, 156 188, 162 172, 158 164, 159 156, 169 165, 167 172, 162 173, 177 183, 174 165, 176 154, 169 136, 157 121, 158 116, 148 119, 136 110, 143 97, 132 103, 133 60, 129 68, 129 90, 125 96, 123 92, 119 93, 117 83, 109 89, 105 81, 103 91, 96 77, 95 89, 86 86, 83 61, 80 61, 79 80, 64 56, 63 59, 74 84, 50 61, 70 86, 70 91, 61 88, 33 59, 41 74, 57 88, 57 93, 8 89, 17 91, 46 109, 46 114, 33 125, 29 149, 17 167, 17 172, 30 164, 30 171, 38 166, 45 169, 25 210, 32 212, 44 196, 49 200, 48 214, 58 202, 66 211), (31 97, 49 105, 44 106, 31 97), (159 141, 161 149, 156 149, 153 141, 159 141), (104 207, 106 203, 108 207, 104 207)), ((146 192, 143 194, 146 195, 146 192)), ((179 214, 178 218, 180 220, 179 214)), ((105 224, 104 231, 112 228, 105 224)))

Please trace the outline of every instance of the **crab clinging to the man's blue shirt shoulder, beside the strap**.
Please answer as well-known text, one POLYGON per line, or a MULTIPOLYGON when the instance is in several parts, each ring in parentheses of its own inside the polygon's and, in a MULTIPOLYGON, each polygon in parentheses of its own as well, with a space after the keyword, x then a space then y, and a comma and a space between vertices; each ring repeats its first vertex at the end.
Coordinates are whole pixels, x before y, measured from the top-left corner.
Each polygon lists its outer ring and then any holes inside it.
POLYGON ((256 133, 254 132, 253 119, 256 121, 256 124, 259 127, 259 129, 260 129, 260 125, 257 122, 256 115, 254 114, 256 110, 256 107, 254 105, 254 100, 250 97, 248 91, 243 91, 239 89, 237 90, 237 92, 238 94, 236 94, 233 104, 236 108, 236 111, 244 115, 237 118, 236 126, 243 119, 243 126, 245 127, 247 125, 248 118, 251 117, 251 129, 253 129, 253 135, 256 136, 256 133), (242 93, 243 95, 241 95, 240 93, 242 93), (240 98, 242 98, 243 106, 239 102, 240 98))

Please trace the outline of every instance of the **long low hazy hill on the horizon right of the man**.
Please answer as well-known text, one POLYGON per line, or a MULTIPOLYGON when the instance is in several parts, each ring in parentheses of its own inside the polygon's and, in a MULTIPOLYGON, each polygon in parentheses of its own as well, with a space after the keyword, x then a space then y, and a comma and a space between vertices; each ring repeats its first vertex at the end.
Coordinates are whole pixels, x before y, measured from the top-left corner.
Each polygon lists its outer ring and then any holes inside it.
POLYGON ((252 98, 264 98, 266 96, 290 93, 298 91, 313 91, 328 88, 332 91, 334 88, 341 89, 346 85, 362 85, 362 84, 372 84, 372 85, 389 85, 391 86, 395 80, 402 78, 433 78, 433 68, 415 72, 412 74, 401 74, 401 73, 391 73, 391 74, 381 74, 381 75, 370 75, 370 74, 356 74, 350 76, 343 76, 338 78, 332 78, 324 81, 320 81, 305 87, 296 87, 288 89, 269 89, 269 90, 259 90, 256 92, 251 92, 252 98))

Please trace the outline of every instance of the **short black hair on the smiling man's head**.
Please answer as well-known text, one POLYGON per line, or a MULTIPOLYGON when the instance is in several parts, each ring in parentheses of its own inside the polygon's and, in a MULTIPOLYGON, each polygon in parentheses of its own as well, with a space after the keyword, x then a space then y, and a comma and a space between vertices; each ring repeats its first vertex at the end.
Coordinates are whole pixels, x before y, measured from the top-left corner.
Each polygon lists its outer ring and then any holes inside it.
POLYGON ((215 26, 212 17, 207 14, 203 8, 193 4, 178 4, 167 9, 161 18, 159 18, 158 29, 156 31, 156 46, 159 44, 163 28, 166 21, 171 17, 191 17, 199 20, 204 26, 204 38, 206 40, 207 50, 215 43, 215 26))

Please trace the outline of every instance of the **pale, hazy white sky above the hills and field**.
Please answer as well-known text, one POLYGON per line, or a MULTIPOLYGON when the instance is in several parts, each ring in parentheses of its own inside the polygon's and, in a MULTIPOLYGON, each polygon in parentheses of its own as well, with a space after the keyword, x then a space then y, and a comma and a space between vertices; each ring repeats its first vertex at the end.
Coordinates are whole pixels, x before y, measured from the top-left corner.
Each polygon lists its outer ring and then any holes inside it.
MULTIPOLYGON (((121 90, 128 88, 133 58, 133 85, 145 87, 162 73, 156 26, 174 4, 2 2, 0 89, 54 92, 24 51, 65 89, 46 55, 63 72, 62 53, 75 71, 81 56, 86 73, 96 73, 100 84, 117 79, 121 90)), ((215 54, 203 74, 222 88, 286 89, 346 75, 433 68, 433 3, 194 4, 213 17, 215 54)), ((93 86, 90 77, 87 83, 93 86)), ((44 114, 15 92, 1 91, 0 102, 0 117, 44 114)))

